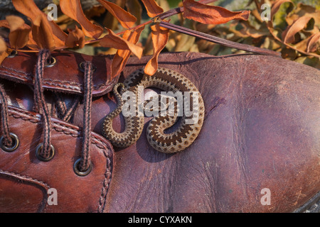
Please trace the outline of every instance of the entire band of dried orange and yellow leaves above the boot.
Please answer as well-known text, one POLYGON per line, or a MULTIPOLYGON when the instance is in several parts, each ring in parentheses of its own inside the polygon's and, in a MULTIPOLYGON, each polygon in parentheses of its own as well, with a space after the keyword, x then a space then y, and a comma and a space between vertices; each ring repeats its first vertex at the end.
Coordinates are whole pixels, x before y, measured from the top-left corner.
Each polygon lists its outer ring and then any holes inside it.
POLYGON ((23 13, 29 22, 25 23, 18 16, 7 16, 6 20, 0 21, 0 27, 10 30, 8 40, 0 37, 0 63, 11 50, 53 51, 94 45, 110 48, 109 53, 114 54, 113 78, 122 72, 132 54, 137 57, 153 55, 145 67, 146 74, 151 75, 158 67, 158 56, 164 48, 214 55, 231 53, 220 45, 169 31, 157 23, 176 14, 178 19, 174 23, 184 27, 276 50, 291 60, 304 63, 306 60, 319 60, 320 13, 311 6, 294 6, 290 0, 252 1, 257 9, 251 14, 250 11, 233 12, 210 4, 216 0, 183 0, 176 11, 169 9, 167 0, 97 1, 99 6, 83 11, 80 0, 60 0, 57 2, 60 9, 58 21, 48 21, 46 12, 38 9, 33 0, 12 0, 16 10, 23 13), (271 21, 261 20, 260 6, 265 2, 272 6, 271 21), (284 6, 287 6, 287 11, 279 16, 284 6), (148 19, 143 18, 143 9, 148 19), (106 16, 102 18, 102 14, 106 16), (151 33, 142 42, 141 36, 146 28, 151 33))

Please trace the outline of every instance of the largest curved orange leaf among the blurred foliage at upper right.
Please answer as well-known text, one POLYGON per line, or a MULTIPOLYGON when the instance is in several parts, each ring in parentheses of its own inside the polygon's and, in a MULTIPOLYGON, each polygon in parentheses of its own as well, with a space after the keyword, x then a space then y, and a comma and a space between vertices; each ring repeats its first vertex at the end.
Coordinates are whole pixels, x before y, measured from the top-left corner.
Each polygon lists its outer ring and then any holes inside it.
POLYGON ((306 26, 306 24, 311 20, 310 16, 302 16, 298 18, 291 26, 288 26, 282 33, 282 40, 284 43, 294 43, 294 35, 306 26))

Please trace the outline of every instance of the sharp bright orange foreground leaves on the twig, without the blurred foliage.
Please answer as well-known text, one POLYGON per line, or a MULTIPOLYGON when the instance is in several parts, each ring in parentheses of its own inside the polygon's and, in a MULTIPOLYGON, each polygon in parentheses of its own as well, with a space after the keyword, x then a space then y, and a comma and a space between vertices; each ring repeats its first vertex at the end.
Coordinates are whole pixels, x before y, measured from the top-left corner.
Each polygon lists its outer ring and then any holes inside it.
MULTIPOLYGON (((141 15, 134 16, 129 11, 135 6, 139 7, 139 1, 119 1, 120 4, 126 3, 128 11, 111 1, 97 1, 125 29, 122 33, 116 34, 110 28, 103 28, 96 23, 92 23, 84 11, 82 11, 80 0, 60 0, 60 10, 63 14, 76 21, 81 27, 78 28, 75 25, 74 28, 67 28, 67 31, 64 31, 54 21, 49 21, 46 13, 38 9, 32 0, 12 0, 16 10, 23 13, 31 21, 31 26, 28 26, 17 16, 7 16, 6 20, 0 21, 1 27, 10 29, 9 49, 18 50, 26 47, 31 50, 48 49, 53 51, 63 48, 83 48, 86 43, 92 43, 93 41, 99 43, 102 47, 117 49, 112 60, 111 75, 112 78, 116 77, 123 70, 131 54, 139 58, 142 57, 143 48, 138 44, 139 36, 144 30, 145 25, 154 20, 150 19, 147 23, 136 25, 137 18, 141 18, 141 15), (104 34, 105 32, 107 32, 106 35, 104 34), (91 40, 87 41, 87 38, 91 40)), ((205 0, 202 1, 206 2, 205 0)), ((154 0, 142 0, 142 3, 148 16, 151 18, 164 13, 164 9, 154 0)), ((190 18, 201 23, 225 23, 234 18, 246 19, 245 17, 249 14, 249 12, 245 11, 240 13, 230 12, 221 7, 207 6, 201 3, 201 1, 197 2, 194 0, 184 0, 183 8, 185 9, 185 13, 183 13, 184 18, 190 18)), ((141 10, 138 14, 141 14, 141 10)), ((154 57, 151 58, 145 67, 146 74, 150 75, 154 74, 158 67, 158 55, 168 42, 169 30, 161 28, 159 24, 155 23, 151 26, 151 39, 154 57)), ((9 55, 9 51, 2 39, 0 47, 0 60, 4 60, 9 55)))

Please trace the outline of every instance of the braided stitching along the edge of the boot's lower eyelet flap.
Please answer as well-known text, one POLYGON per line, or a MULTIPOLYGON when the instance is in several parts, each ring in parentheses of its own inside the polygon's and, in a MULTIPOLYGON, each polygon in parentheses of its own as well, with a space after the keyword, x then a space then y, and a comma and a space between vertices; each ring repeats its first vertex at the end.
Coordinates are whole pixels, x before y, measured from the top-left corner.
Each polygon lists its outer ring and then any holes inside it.
MULTIPOLYGON (((38 116, 28 114, 24 111, 19 111, 18 109, 9 109, 9 116, 12 116, 14 118, 21 118, 22 120, 30 121, 31 123, 39 123, 40 122, 40 118, 38 116), (15 112, 16 112, 16 114, 14 114, 15 112), (19 114, 22 114, 22 116, 19 114)), ((60 123, 53 122, 53 129, 57 132, 65 133, 66 135, 72 135, 73 137, 79 137, 79 138, 81 137, 80 131, 78 131, 74 128, 70 128, 68 126, 63 126, 60 123), (61 128, 68 128, 68 130, 70 130, 70 131, 65 131, 63 129, 59 129, 54 125, 58 125, 61 128), (77 132, 77 133, 73 134, 71 131, 77 132)), ((110 145, 104 143, 99 138, 95 138, 94 135, 92 135, 91 138, 93 139, 93 140, 91 140, 91 143, 96 145, 97 148, 100 148, 103 150, 103 153, 104 153, 106 160, 107 160, 105 179, 102 182, 101 194, 100 194, 100 198, 99 198, 99 202, 98 202, 98 206, 97 206, 97 211, 102 213, 105 209, 105 202, 107 200, 107 192, 109 191, 110 183, 112 180, 112 167, 111 167, 111 159, 110 159, 111 148, 110 148, 110 145), (97 140, 99 143, 97 143, 95 140, 97 140)))

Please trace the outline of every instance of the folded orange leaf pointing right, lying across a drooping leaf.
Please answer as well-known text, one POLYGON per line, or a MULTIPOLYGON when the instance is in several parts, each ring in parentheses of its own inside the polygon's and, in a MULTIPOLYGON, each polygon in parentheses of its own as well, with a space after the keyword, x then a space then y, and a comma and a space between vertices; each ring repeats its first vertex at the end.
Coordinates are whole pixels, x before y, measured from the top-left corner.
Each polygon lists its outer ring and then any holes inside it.
POLYGON ((119 50, 131 50, 134 55, 141 58, 143 48, 139 47, 139 45, 135 45, 134 43, 130 43, 128 40, 121 38, 116 35, 112 30, 107 28, 109 34, 105 35, 100 40, 100 45, 105 48, 116 48, 119 50))

